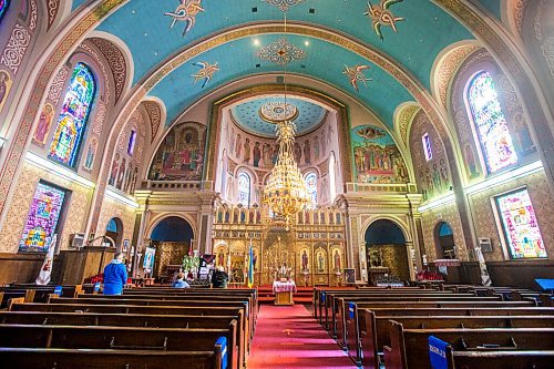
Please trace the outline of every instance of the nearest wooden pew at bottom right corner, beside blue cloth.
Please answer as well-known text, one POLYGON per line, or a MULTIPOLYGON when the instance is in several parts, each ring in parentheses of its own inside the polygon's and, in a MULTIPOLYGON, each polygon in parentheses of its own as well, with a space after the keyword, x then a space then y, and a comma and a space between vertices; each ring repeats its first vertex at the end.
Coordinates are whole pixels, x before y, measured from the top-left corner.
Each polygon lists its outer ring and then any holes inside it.
POLYGON ((454 351, 447 348, 449 369, 551 369, 554 350, 454 351))

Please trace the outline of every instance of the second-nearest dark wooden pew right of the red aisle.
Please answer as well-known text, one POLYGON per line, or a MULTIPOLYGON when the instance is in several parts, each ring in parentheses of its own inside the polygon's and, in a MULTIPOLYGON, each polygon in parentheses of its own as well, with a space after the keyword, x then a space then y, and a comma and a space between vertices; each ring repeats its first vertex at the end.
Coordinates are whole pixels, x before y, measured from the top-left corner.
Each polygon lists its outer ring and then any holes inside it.
POLYGON ((499 350, 550 350, 554 342, 553 328, 444 328, 403 329, 390 320, 391 346, 384 347, 387 369, 429 368, 429 336, 450 342, 454 350, 479 350, 483 346, 499 350))

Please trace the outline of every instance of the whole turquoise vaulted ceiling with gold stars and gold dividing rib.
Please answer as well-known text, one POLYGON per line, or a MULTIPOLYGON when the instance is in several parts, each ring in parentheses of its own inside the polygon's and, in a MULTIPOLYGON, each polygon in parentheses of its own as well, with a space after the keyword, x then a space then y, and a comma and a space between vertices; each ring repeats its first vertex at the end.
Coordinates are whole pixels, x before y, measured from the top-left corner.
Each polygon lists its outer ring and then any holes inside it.
MULTIPOLYGON (((84 2, 75 0, 73 8, 84 2)), ((483 0, 497 17, 499 3, 483 0)), ((167 124, 223 85, 286 72, 341 90, 392 129, 397 107, 416 100, 402 79, 431 91, 437 58, 474 40, 448 12, 422 0, 131 0, 96 30, 127 49, 134 86, 161 75, 147 93, 165 104, 167 124), (373 27, 377 11, 393 21, 373 27), (168 72, 160 73, 167 64, 168 72)))

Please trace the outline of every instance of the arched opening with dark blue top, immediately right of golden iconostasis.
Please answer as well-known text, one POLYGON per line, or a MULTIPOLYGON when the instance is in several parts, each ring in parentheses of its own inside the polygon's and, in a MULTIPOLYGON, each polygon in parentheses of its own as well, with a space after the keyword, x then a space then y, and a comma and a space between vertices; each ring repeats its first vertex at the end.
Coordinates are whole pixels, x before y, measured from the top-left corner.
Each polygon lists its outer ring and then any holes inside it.
POLYGON ((410 279, 406 237, 398 224, 388 219, 376 221, 366 230, 365 239, 372 283, 384 274, 401 280, 410 279))

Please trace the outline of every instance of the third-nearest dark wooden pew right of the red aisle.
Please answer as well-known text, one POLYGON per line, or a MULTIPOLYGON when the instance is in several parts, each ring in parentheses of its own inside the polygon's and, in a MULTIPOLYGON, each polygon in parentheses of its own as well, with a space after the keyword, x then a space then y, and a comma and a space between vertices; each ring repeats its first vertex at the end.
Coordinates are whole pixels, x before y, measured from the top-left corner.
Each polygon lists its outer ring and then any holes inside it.
MULTIPOLYGON (((361 311, 359 322, 359 345, 349 337, 349 355, 356 355, 365 367, 379 365, 378 352, 390 342, 390 320, 402 324, 404 329, 437 329, 437 328, 554 328, 554 309, 552 316, 376 316, 371 310, 361 311), (362 359, 361 359, 362 358, 362 359)), ((409 314, 409 311, 407 312, 409 314)), ((355 335, 352 335, 355 336, 355 335)))

